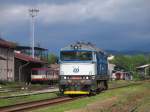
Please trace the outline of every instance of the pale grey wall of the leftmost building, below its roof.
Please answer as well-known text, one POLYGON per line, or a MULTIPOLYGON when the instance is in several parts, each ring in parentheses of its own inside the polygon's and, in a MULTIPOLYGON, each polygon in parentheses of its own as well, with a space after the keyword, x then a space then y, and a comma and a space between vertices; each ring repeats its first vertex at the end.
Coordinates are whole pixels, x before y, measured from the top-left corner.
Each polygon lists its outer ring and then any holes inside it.
POLYGON ((0 47, 0 80, 14 81, 14 50, 0 47))

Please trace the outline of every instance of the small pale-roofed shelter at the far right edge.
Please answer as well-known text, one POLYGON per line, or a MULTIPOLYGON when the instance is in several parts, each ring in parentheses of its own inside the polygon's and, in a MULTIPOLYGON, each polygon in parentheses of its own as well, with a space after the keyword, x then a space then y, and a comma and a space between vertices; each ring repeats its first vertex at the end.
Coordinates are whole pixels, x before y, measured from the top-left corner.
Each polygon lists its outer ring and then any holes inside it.
POLYGON ((138 66, 136 70, 141 78, 150 78, 150 64, 138 66))

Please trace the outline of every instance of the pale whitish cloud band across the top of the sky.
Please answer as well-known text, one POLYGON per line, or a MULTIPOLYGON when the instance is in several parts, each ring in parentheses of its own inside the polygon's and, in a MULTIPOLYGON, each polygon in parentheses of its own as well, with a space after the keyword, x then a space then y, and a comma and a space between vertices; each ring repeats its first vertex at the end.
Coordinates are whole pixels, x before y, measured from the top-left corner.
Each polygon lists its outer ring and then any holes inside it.
MULTIPOLYGON (((38 19, 49 23, 80 23, 86 20, 102 22, 145 22, 148 18, 149 0, 80 0, 66 4, 40 3, 38 19), (134 19, 136 18, 136 19, 134 19)), ((0 24, 26 21, 29 5, 11 5, 0 10, 0 24)))

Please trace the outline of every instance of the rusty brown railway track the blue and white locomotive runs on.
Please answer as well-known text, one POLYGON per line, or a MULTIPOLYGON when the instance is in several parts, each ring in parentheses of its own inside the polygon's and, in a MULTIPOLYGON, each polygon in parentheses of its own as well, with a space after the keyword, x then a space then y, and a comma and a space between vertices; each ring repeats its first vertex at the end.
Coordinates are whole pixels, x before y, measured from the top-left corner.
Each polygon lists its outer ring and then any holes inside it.
MULTIPOLYGON (((122 86, 119 86, 119 87, 109 88, 108 90, 124 88, 124 87, 139 85, 139 84, 141 84, 141 83, 122 85, 122 86)), ((68 101, 77 100, 77 99, 82 98, 82 97, 85 97, 85 96, 57 97, 57 98, 53 98, 53 99, 33 101, 33 102, 28 102, 28 103, 21 103, 21 104, 16 104, 16 105, 11 105, 11 106, 0 107, 0 112, 24 112, 24 111, 27 111, 27 110, 32 110, 32 109, 42 108, 42 107, 55 105, 55 104, 59 104, 59 103, 64 103, 64 102, 68 102, 68 101)))

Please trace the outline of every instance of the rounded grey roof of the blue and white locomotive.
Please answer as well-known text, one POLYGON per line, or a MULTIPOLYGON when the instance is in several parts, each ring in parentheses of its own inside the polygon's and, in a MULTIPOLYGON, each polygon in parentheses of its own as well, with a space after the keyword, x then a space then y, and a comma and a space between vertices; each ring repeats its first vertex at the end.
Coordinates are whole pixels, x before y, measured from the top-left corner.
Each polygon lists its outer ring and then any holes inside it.
POLYGON ((89 42, 76 42, 61 49, 61 51, 65 50, 89 50, 105 53, 102 49, 97 48, 94 44, 89 42))

